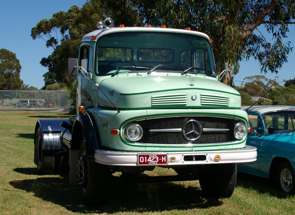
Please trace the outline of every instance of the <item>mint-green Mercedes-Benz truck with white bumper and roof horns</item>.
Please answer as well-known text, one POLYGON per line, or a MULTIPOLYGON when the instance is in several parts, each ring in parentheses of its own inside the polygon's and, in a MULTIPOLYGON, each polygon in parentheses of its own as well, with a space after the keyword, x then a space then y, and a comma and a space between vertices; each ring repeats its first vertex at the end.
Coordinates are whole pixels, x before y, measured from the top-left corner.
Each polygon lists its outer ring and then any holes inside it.
MULTIPOLYGON (((255 161, 257 153, 246 146, 240 94, 215 73, 210 38, 187 29, 112 27, 110 18, 103 24, 68 61, 69 75, 77 77, 77 115, 56 126, 58 146, 50 155, 69 152, 70 182, 83 202, 99 202, 109 181, 199 180, 208 195, 230 197, 236 163, 255 161), (176 175, 137 177, 155 167, 176 175)), ((42 124, 35 132, 37 167, 50 123, 42 124)))

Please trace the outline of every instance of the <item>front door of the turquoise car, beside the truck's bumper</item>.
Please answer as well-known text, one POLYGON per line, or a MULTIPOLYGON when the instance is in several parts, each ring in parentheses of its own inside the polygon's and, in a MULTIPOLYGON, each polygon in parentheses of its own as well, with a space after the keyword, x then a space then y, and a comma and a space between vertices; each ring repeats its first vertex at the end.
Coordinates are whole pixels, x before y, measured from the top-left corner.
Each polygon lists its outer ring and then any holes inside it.
POLYGON ((252 127, 258 134, 251 135, 248 132, 247 136, 247 145, 254 146, 257 148, 257 160, 254 162, 248 163, 240 163, 238 164, 238 168, 245 173, 251 173, 254 175, 261 175, 261 141, 263 141, 263 137, 265 136, 265 125, 262 121, 262 118, 259 114, 256 113, 248 113, 249 118, 249 127, 252 127))

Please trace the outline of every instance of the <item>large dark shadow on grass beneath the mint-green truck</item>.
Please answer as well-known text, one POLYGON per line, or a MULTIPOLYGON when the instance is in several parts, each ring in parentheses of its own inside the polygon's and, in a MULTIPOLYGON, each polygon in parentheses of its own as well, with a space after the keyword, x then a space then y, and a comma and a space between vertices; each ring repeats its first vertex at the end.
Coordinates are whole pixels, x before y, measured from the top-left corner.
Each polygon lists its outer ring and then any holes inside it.
MULTIPOLYGON (((19 170, 18 170, 19 171, 19 170)), ((26 171, 25 171, 26 172, 26 171)), ((31 172, 28 170, 27 173, 31 172)), ((102 206, 88 207, 81 203, 78 187, 69 183, 68 174, 58 178, 44 177, 15 180, 17 189, 34 193, 74 213, 160 212, 220 206, 222 201, 204 198, 198 187, 175 183, 109 184, 109 200, 102 206)), ((101 185, 104 186, 104 185, 101 185)))

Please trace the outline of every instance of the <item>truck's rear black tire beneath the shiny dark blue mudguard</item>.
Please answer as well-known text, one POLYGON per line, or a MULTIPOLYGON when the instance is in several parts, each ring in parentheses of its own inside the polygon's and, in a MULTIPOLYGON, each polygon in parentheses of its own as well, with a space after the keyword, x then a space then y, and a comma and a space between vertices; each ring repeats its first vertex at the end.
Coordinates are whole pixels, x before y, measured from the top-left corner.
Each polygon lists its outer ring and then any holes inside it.
POLYGON ((35 142, 35 158, 38 172, 43 175, 51 175, 54 171, 55 157, 45 156, 43 150, 43 137, 41 128, 39 127, 36 134, 35 142))

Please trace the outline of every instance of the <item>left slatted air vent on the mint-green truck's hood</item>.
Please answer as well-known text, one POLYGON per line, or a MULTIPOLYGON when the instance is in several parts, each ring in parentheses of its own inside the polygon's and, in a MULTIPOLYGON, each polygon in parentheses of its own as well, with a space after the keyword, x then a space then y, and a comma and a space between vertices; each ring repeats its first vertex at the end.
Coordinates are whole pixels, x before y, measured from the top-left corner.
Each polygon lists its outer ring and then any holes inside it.
POLYGON ((152 106, 170 105, 185 106, 187 104, 186 93, 171 93, 152 96, 152 106))

